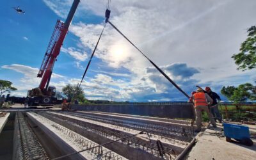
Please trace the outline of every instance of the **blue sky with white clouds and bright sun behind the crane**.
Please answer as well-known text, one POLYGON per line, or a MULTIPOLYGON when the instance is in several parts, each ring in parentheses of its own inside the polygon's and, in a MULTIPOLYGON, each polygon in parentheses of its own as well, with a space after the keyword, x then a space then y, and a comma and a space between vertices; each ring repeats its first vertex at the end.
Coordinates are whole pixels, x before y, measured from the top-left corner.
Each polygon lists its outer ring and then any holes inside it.
MULTIPOLYGON (((106 0, 81 0, 54 66, 51 85, 77 84, 104 25, 106 0)), ((25 96, 36 77, 57 19, 72 0, 3 1, 0 10, 0 79, 25 96), (19 14, 12 7, 20 6, 19 14)), ((236 70, 232 54, 255 25, 256 1, 111 1, 110 20, 187 93, 195 86, 253 83, 254 70, 236 70)), ((107 24, 82 84, 86 98, 129 101, 186 100, 107 24)), ((223 97, 224 99, 224 97, 223 97)))

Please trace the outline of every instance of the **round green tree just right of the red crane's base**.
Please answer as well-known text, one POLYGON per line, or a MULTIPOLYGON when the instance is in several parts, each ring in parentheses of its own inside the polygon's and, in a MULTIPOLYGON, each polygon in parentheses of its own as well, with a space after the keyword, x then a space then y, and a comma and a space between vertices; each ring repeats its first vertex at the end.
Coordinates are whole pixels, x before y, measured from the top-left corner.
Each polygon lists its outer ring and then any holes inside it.
POLYGON ((84 102, 84 92, 82 88, 77 90, 76 85, 67 84, 64 88, 62 88, 63 94, 67 97, 68 101, 74 102, 74 100, 79 100, 79 102, 84 102))

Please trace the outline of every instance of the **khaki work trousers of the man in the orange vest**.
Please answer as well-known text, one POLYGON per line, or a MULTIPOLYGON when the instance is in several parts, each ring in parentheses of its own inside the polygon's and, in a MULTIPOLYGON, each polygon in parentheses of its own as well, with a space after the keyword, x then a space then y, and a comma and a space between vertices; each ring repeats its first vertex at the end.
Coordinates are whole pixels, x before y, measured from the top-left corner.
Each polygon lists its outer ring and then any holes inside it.
POLYGON ((196 112, 196 129, 197 130, 201 130, 202 127, 202 111, 205 111, 205 113, 207 113, 212 126, 216 126, 216 122, 214 120, 214 118, 212 117, 208 106, 196 106, 195 108, 195 112, 196 112))

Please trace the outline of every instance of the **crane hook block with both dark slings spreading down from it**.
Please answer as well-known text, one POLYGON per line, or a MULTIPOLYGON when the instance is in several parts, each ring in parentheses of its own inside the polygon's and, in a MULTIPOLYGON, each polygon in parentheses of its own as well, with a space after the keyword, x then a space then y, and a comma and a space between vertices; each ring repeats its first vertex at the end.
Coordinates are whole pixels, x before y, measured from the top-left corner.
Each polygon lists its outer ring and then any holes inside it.
MULTIPOLYGON (((129 40, 128 38, 127 38, 127 36, 125 36, 118 28, 116 28, 116 26, 114 26, 114 24, 112 24, 110 21, 109 21, 109 17, 110 17, 110 13, 111 13, 111 11, 109 10, 109 8, 106 10, 106 12, 105 12, 105 17, 106 17, 106 20, 105 20, 105 24, 104 24, 104 28, 106 27, 106 24, 107 23, 109 23, 114 29, 116 29, 116 31, 118 31, 118 33, 120 33, 120 35, 122 35, 122 36, 124 36, 124 38, 131 44, 131 45, 133 45, 166 79, 168 79, 168 81, 170 82, 170 83, 172 83, 173 84, 173 86, 175 86, 175 88, 177 88, 177 90, 179 90, 181 93, 183 93, 188 99, 189 99, 189 95, 186 93, 186 92, 184 92, 184 90, 182 90, 172 79, 170 79, 170 77, 168 77, 164 72, 163 72, 163 70, 161 70, 161 68, 159 68, 157 65, 156 65, 156 63, 154 63, 152 60, 150 60, 138 47, 136 47, 136 45, 134 45, 132 42, 131 42, 131 40, 129 40)), ((103 31, 104 31, 104 28, 102 29, 102 32, 100 33, 100 36, 99 36, 99 40, 100 40, 100 38, 101 38, 101 35, 102 35, 102 33, 103 33, 103 31)), ((97 44, 95 45, 95 48, 93 49, 93 52, 92 52, 92 56, 91 56, 91 58, 90 58, 90 61, 88 62, 88 65, 87 65, 87 67, 86 67, 86 70, 84 71, 84 74, 83 74, 83 77, 82 77, 82 79, 81 79, 81 82, 80 82, 80 84, 79 84, 79 86, 77 87, 77 90, 79 89, 79 87, 81 86, 81 83, 83 82, 83 79, 84 79, 84 76, 86 75, 86 72, 87 72, 87 70, 88 70, 88 68, 89 68, 89 66, 90 66, 90 63, 91 63, 91 61, 92 61, 92 58, 93 58, 93 55, 94 55, 94 53, 95 53, 95 50, 97 49, 97 46, 98 46, 98 44, 99 44, 99 40, 97 41, 97 44)))

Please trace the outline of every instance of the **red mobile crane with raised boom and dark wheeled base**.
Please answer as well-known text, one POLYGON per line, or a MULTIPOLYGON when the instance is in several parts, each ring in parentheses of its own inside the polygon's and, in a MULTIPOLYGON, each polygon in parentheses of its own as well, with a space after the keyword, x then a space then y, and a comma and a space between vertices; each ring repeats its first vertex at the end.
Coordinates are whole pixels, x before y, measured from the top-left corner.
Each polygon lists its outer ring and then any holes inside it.
POLYGON ((63 44, 65 36, 67 35, 68 28, 74 17, 79 2, 80 0, 74 0, 65 22, 61 22, 61 20, 57 20, 56 22, 56 26, 45 52, 42 65, 37 74, 37 77, 42 77, 41 83, 39 84, 38 88, 33 88, 32 90, 28 91, 29 106, 50 106, 55 104, 57 101, 55 97, 56 88, 54 86, 49 86, 52 76, 52 69, 58 55, 60 54, 61 45, 63 44))

